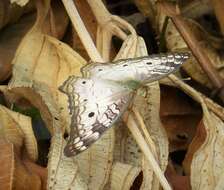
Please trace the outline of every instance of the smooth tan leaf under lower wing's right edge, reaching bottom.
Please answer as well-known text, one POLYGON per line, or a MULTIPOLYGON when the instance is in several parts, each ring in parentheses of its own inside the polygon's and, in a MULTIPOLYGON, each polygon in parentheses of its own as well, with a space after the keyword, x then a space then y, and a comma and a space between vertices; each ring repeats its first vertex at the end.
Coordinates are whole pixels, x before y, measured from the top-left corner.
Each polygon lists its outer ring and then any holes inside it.
POLYGON ((89 189, 103 189, 109 179, 113 161, 114 130, 108 130, 88 150, 75 159, 79 173, 84 176, 89 189))

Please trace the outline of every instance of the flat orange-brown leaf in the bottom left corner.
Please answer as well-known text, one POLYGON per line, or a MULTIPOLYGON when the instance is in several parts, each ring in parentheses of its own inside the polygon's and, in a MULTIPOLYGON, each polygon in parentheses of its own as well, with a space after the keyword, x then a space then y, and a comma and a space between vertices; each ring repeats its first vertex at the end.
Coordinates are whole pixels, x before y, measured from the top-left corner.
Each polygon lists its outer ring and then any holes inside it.
POLYGON ((2 189, 42 190, 40 177, 27 168, 16 154, 13 143, 0 139, 0 186, 2 189))

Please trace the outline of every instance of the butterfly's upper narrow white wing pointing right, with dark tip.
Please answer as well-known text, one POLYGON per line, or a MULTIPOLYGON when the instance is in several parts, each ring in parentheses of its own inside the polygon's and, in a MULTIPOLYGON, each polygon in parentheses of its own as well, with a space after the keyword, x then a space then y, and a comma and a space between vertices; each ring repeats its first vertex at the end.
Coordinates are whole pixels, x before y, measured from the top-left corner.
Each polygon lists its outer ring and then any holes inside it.
POLYGON ((187 59, 188 53, 156 54, 119 60, 113 63, 93 63, 82 69, 84 76, 115 81, 153 82, 175 72, 187 59))

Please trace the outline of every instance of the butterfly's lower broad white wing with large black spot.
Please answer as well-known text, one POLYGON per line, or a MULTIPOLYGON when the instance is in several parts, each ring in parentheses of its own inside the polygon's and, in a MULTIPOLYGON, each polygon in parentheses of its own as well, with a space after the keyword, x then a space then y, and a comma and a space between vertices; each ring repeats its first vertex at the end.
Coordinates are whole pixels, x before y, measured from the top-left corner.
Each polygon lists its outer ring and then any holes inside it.
POLYGON ((94 143, 125 111, 132 91, 119 83, 69 77, 60 90, 68 95, 72 115, 66 156, 74 156, 94 143))

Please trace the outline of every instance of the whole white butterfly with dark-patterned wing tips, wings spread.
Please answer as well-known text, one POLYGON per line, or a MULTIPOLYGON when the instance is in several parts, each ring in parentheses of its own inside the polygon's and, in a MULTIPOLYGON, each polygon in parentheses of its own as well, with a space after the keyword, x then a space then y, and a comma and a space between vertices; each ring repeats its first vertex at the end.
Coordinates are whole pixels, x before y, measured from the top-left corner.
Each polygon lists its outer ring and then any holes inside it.
POLYGON ((82 77, 70 76, 59 87, 71 114, 66 156, 89 148, 125 112, 136 89, 175 72, 188 53, 158 54, 111 63, 91 63, 82 77))

